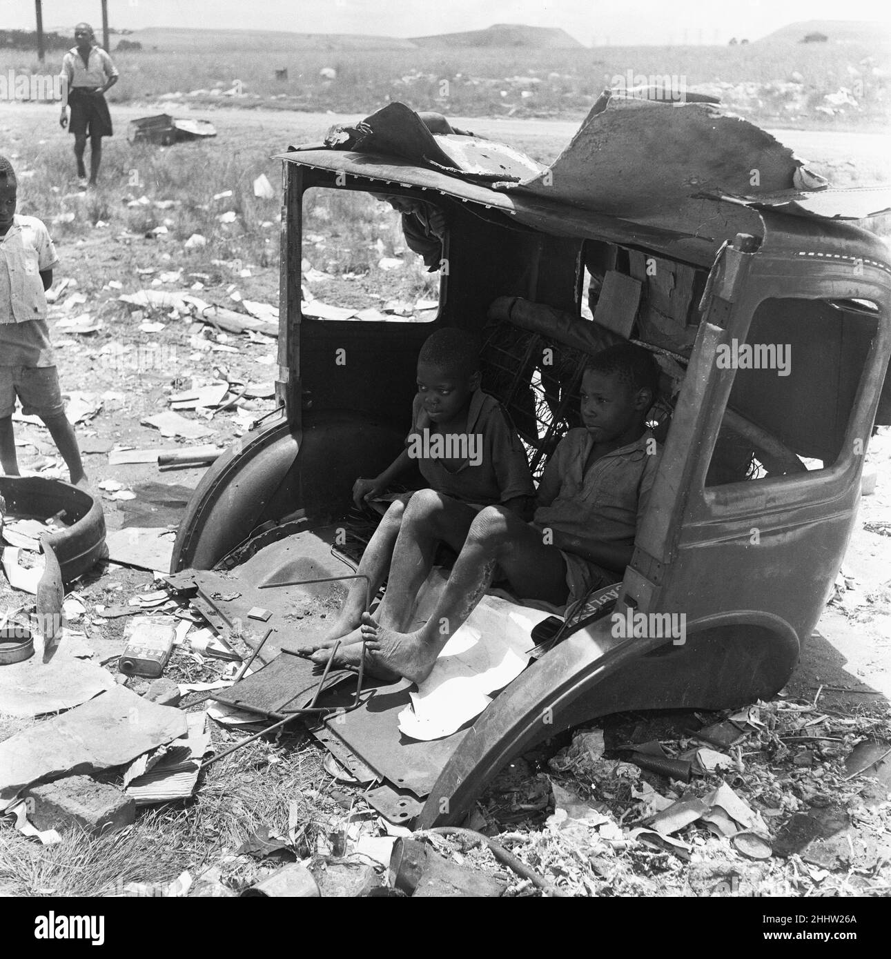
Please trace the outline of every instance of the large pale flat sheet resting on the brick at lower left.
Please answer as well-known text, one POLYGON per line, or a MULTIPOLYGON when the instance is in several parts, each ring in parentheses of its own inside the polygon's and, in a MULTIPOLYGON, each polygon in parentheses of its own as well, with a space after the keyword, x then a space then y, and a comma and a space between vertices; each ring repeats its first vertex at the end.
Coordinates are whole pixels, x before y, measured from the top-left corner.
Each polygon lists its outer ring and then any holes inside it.
POLYGON ((186 732, 185 713, 114 686, 0 743, 0 799, 32 783, 123 765, 186 732))

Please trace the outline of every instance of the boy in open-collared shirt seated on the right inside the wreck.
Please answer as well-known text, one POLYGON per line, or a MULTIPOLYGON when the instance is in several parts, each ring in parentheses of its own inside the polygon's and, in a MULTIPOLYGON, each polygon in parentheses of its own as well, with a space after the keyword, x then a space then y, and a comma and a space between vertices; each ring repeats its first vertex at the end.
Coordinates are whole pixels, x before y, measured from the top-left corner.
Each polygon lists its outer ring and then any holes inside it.
MULTIPOLYGON (((646 429, 658 373, 652 356, 630 343, 592 358, 582 378, 584 426, 567 433, 551 456, 531 523, 500 505, 468 511, 431 489, 411 497, 384 599, 375 616, 362 615, 367 668, 423 682, 496 579, 506 579, 516 596, 555 604, 621 579, 659 463, 646 429), (440 542, 457 551, 457 562, 433 616, 409 632, 440 542)), ((323 649, 313 658, 324 663, 330 655, 323 649)), ((362 646, 342 646, 335 665, 358 666, 361 656, 362 646)))

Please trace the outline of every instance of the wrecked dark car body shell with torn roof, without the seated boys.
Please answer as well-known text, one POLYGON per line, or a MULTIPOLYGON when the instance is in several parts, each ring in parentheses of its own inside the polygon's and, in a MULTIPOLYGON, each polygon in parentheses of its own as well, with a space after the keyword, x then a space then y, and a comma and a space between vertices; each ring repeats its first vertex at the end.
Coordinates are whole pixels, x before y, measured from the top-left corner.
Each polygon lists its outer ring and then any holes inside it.
POLYGON ((891 422, 891 258, 872 232, 888 197, 826 188, 769 134, 712 106, 609 94, 548 168, 434 135, 398 104, 282 160, 279 408, 208 470, 172 564, 174 586, 196 591, 214 626, 263 643, 268 666, 221 700, 277 720, 314 712, 317 739, 378 783, 372 805, 432 826, 459 821, 505 762, 561 730, 782 689, 851 536, 869 436, 891 422), (434 322, 305 315, 311 189, 446 212, 434 322), (593 318, 586 290, 599 292, 593 318), (522 300, 493 323, 501 296, 522 300), (289 649, 323 629, 332 580, 354 572, 341 550, 353 480, 402 448, 415 358, 440 326, 482 331, 483 388, 514 416, 536 476, 578 422, 585 357, 618 339, 660 363, 665 447, 621 583, 574 610, 473 725, 419 741, 398 727, 408 682, 360 677, 357 690, 332 671, 320 684, 289 649), (683 615, 683 641, 635 636, 641 614, 683 615))

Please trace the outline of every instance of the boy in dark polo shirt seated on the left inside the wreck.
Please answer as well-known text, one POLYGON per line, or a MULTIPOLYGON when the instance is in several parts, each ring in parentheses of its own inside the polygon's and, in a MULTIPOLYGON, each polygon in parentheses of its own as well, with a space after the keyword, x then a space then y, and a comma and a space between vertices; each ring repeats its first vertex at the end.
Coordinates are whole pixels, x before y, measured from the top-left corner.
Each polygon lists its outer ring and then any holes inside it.
MULTIPOLYGON (((356 505, 373 500, 415 462, 424 481, 450 505, 450 515, 467 529, 477 513, 495 505, 508 513, 530 511, 535 485, 528 459, 504 407, 480 388, 480 350, 475 337, 450 327, 424 341, 417 360, 417 388, 406 448, 374 479, 357 479, 356 505)), ((417 493, 396 499, 363 552, 358 573, 368 576, 370 596, 390 568, 406 504, 417 493)), ((388 592, 388 591, 387 591, 388 592)), ((326 635, 299 648, 327 662, 335 643, 359 643, 365 609, 365 581, 354 579, 337 619, 326 635)))

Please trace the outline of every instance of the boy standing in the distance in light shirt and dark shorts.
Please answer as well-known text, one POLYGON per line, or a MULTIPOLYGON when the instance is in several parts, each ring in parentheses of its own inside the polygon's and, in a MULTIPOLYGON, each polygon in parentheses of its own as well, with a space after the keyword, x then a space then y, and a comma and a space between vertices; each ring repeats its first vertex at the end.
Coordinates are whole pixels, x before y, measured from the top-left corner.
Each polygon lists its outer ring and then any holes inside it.
MULTIPOLYGON (((68 129, 74 133, 74 155, 78 161, 81 186, 87 185, 83 151, 89 134, 89 186, 95 186, 102 162, 102 138, 112 134, 111 114, 108 112, 105 93, 118 82, 119 75, 106 51, 96 46, 93 28, 88 23, 79 23, 74 28, 74 38, 77 46, 65 54, 61 71, 62 80, 67 83, 68 105, 71 106, 71 123, 68 129)), ((62 128, 68 124, 64 100, 59 124, 62 128)))

